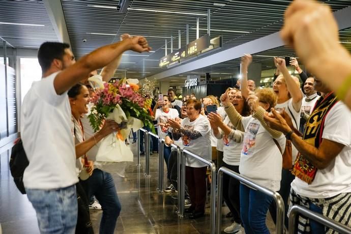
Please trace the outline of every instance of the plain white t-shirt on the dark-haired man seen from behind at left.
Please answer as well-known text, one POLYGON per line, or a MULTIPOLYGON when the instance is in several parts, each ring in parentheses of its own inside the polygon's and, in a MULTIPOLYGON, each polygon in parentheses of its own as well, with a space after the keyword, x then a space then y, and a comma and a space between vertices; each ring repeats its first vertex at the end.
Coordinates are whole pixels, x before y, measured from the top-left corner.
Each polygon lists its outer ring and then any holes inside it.
POLYGON ((67 92, 57 95, 58 72, 33 82, 21 107, 21 138, 29 165, 23 183, 28 189, 58 189, 78 182, 67 92))

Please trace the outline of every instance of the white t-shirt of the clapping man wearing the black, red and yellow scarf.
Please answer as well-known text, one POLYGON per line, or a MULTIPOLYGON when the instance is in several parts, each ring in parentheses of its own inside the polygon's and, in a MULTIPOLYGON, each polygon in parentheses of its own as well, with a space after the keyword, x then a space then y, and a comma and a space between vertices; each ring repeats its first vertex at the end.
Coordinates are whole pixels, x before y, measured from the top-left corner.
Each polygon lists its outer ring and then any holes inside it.
POLYGON ((322 138, 345 146, 325 169, 317 169, 310 185, 297 177, 291 183, 291 188, 305 197, 328 198, 351 192, 351 112, 340 101, 325 120, 322 138))

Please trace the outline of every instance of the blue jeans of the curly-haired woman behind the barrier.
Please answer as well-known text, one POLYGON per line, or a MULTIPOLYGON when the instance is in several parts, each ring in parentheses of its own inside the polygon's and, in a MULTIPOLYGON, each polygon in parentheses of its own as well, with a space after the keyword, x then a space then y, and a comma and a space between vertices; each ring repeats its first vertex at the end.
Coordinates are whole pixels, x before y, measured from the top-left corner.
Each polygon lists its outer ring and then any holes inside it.
POLYGON ((240 184, 240 215, 246 234, 269 234, 266 216, 273 197, 240 184))

